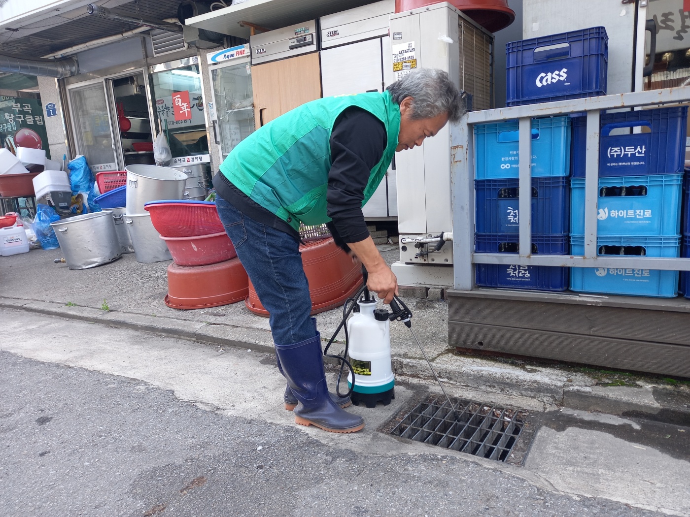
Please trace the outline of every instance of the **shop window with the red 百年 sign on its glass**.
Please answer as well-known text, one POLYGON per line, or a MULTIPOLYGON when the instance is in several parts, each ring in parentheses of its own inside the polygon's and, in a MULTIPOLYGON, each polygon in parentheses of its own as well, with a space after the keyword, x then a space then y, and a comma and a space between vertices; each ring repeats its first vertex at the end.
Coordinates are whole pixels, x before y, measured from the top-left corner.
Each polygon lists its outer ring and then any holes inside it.
POLYGON ((199 65, 152 74, 158 131, 170 145, 170 165, 208 163, 208 133, 199 65))

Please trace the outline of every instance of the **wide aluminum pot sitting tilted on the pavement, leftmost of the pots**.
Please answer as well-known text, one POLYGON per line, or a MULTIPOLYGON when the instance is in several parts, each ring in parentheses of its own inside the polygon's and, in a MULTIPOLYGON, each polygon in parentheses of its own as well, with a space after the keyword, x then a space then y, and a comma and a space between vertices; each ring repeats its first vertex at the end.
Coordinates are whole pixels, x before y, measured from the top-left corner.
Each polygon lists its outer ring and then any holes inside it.
POLYGON ((86 270, 119 259, 122 252, 109 210, 50 223, 70 270, 86 270))

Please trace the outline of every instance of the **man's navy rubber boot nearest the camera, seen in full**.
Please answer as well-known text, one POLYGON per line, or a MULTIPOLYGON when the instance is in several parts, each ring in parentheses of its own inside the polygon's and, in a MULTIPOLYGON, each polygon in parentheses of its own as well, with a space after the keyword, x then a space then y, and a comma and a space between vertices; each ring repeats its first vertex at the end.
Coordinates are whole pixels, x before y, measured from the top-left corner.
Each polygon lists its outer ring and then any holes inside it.
POLYGON ((275 353, 299 404, 295 423, 315 425, 334 433, 353 433, 364 428, 364 418, 338 407, 328 393, 321 354, 321 336, 293 345, 275 345, 275 353))

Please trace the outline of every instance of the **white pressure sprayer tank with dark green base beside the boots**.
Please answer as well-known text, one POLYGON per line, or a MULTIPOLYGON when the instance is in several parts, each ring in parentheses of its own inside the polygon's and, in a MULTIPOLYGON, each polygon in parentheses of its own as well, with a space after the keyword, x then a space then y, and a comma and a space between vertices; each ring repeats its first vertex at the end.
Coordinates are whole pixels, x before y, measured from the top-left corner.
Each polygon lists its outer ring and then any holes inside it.
MULTIPOLYGON (((353 404, 366 407, 388 405, 395 398, 395 376, 391 370, 389 312, 376 309, 375 301, 357 301, 359 312, 347 322, 350 364, 355 372, 353 404)), ((348 387, 352 387, 352 373, 348 387)))

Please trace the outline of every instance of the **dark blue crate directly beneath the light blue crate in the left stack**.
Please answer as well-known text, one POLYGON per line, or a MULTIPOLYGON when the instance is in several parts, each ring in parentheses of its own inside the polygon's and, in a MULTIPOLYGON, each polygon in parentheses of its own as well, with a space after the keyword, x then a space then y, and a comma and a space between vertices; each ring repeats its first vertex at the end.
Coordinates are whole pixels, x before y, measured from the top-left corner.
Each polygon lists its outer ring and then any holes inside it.
MULTIPOLYGON (((476 230, 482 234, 516 234, 520 231, 517 179, 478 179, 476 230)), ((569 178, 532 179, 532 233, 568 233, 569 178)))

